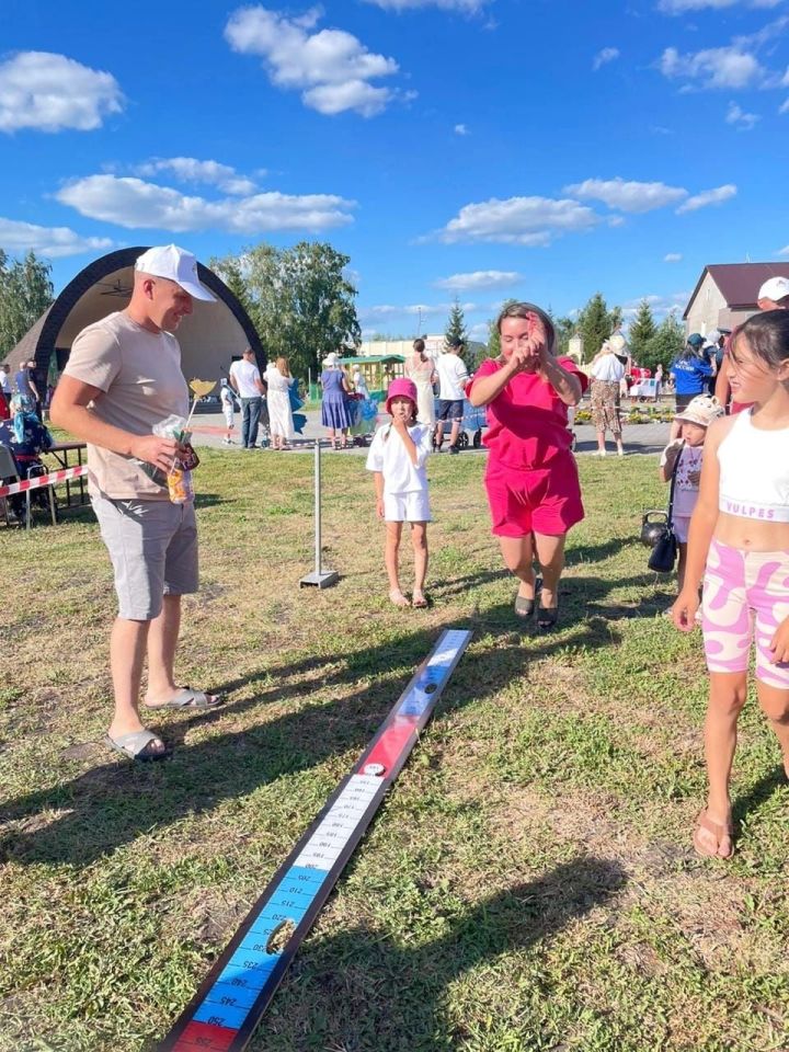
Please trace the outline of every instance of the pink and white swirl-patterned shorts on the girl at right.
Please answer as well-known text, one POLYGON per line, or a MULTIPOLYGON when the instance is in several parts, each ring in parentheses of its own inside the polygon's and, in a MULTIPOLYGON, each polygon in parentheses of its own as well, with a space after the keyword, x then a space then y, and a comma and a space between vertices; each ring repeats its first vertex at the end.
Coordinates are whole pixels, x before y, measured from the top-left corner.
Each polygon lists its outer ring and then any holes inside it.
POLYGON ((743 551, 713 540, 704 580, 701 629, 710 672, 746 672, 756 643, 756 678, 789 690, 789 663, 775 664, 773 634, 789 617, 789 551, 743 551))

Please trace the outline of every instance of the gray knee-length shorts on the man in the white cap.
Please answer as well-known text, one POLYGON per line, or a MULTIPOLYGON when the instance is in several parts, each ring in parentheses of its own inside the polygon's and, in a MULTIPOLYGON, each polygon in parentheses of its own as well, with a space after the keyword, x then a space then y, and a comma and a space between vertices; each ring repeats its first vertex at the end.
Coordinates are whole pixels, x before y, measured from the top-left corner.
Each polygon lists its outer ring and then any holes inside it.
POLYGON ((91 496, 115 571, 118 617, 150 621, 162 596, 197 591, 197 523, 194 504, 113 501, 91 496))

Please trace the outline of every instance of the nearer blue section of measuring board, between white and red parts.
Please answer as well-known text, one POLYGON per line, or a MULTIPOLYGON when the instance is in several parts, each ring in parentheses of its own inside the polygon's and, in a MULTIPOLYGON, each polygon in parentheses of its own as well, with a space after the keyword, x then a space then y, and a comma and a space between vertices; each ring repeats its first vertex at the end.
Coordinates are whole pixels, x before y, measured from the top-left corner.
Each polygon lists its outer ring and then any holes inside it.
POLYGON ((283 921, 299 921, 309 910, 328 871, 291 866, 254 918, 251 928, 217 976, 193 1019, 230 1030, 240 1029, 282 953, 267 953, 266 944, 283 921))

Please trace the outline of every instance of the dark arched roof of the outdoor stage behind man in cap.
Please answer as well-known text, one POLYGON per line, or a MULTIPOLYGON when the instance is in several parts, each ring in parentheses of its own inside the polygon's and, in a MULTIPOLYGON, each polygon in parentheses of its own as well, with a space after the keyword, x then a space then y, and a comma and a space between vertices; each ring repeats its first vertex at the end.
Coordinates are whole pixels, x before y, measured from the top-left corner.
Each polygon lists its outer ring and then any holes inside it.
MULTIPOLYGON (((135 261, 147 249, 147 245, 118 249, 80 271, 7 356, 11 367, 15 369, 20 362, 35 359, 38 369, 48 370, 53 352, 70 351, 75 338, 85 325, 123 310, 132 295, 135 261)), ((265 353, 260 336, 238 298, 202 263, 197 264, 197 275, 218 302, 194 300, 192 315, 179 325, 184 374, 188 377, 203 370, 207 378, 226 375, 230 361, 238 357, 244 346, 252 347, 263 367, 265 353)))

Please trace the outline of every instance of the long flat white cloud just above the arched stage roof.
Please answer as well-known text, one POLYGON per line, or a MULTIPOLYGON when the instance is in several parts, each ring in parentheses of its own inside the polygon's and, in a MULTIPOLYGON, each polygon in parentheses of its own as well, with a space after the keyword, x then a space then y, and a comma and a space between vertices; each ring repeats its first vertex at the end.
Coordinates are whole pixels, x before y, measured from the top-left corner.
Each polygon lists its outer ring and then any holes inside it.
POLYGON ((293 196, 253 194, 206 201, 140 179, 89 175, 68 183, 57 194, 83 216, 129 229, 224 230, 262 233, 272 230, 325 230, 352 222, 355 202, 330 194, 293 196))

